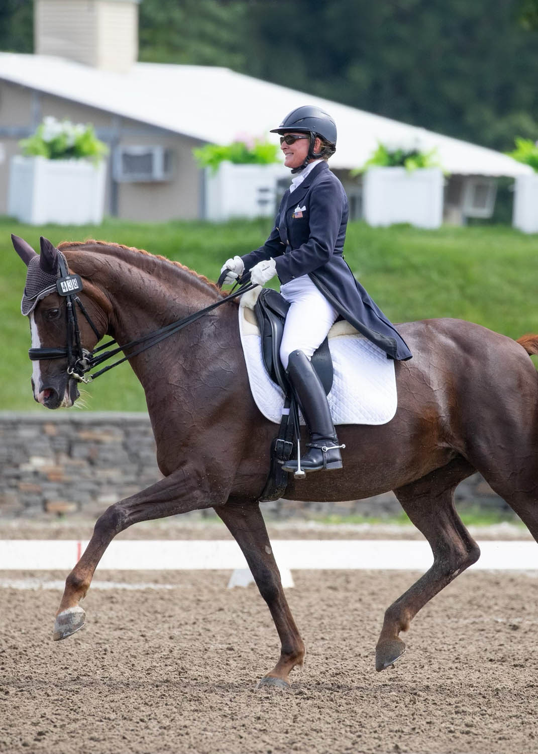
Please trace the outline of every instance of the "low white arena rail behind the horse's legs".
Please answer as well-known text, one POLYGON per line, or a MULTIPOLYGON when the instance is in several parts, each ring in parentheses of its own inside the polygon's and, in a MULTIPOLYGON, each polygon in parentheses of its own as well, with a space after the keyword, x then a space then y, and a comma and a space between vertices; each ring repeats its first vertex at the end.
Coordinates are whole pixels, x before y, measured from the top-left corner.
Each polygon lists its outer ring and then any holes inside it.
MULTIPOLYGON (((478 544, 481 557, 472 569, 538 571, 538 545, 533 541, 478 544)), ((0 571, 69 571, 86 545, 76 540, 0 540, 0 571)), ((283 574, 299 569, 424 572, 433 562, 426 541, 279 540, 272 546, 283 574)), ((99 563, 102 570, 129 571, 246 568, 243 554, 231 540, 115 541, 99 563)))

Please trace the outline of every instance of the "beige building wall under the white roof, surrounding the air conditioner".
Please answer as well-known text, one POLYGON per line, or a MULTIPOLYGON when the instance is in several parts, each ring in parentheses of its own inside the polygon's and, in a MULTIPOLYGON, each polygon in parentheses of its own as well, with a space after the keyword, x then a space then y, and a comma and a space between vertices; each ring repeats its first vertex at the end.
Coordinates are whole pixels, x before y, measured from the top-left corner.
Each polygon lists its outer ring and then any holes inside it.
POLYGON ((200 142, 127 118, 119 118, 80 103, 62 100, 26 87, 0 81, 0 143, 5 161, 0 164, 0 214, 8 202, 9 160, 20 154, 18 142, 29 136, 46 115, 75 123, 92 123, 99 138, 114 146, 162 145, 173 150, 173 178, 166 182, 112 182, 112 154, 109 155, 105 215, 122 219, 158 222, 196 219, 201 212, 203 173, 191 149, 200 142))

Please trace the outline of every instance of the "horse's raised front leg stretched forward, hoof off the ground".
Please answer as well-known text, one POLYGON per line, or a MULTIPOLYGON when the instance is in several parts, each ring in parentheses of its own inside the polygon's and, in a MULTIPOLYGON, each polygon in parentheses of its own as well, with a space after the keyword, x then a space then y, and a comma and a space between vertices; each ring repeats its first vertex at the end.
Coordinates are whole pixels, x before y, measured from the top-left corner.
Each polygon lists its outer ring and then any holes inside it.
POLYGON ((159 482, 111 505, 96 522, 93 535, 75 568, 66 579, 53 639, 66 639, 84 626, 86 614, 78 602, 90 588, 93 573, 113 538, 128 526, 189 510, 215 505, 203 483, 203 474, 188 464, 159 482))

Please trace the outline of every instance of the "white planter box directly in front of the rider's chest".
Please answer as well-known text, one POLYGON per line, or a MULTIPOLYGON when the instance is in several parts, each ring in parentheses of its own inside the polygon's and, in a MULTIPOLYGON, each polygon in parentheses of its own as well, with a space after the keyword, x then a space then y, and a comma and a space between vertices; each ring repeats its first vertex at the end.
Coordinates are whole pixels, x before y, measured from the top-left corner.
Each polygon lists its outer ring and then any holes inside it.
POLYGON ((212 173, 206 168, 205 218, 213 222, 231 217, 274 217, 277 182, 289 178, 283 165, 236 165, 222 162, 212 173))

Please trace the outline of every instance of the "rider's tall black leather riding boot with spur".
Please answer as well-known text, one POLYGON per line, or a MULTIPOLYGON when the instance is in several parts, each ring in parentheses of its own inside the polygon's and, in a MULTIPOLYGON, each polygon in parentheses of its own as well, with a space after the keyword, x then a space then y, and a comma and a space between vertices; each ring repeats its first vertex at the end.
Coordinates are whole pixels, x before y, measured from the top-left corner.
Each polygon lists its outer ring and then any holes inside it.
MULTIPOLYGON (((341 469, 340 449, 345 446, 338 445, 325 390, 303 351, 293 351, 289 354, 288 378, 297 394, 304 421, 310 431, 310 443, 307 443, 308 452, 301 458, 301 469, 304 471, 341 469)), ((283 469, 297 471, 297 459, 286 461, 283 469)))

